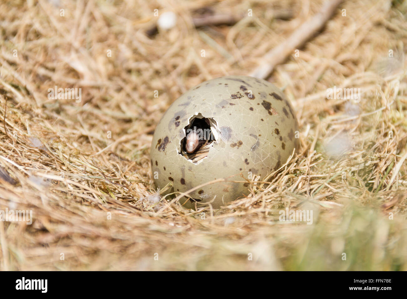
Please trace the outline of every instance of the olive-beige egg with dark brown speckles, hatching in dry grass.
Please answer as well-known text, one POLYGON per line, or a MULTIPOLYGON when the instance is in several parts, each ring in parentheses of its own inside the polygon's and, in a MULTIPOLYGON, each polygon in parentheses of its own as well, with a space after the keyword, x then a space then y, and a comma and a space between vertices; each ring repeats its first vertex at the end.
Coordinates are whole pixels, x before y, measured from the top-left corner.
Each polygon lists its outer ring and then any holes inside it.
POLYGON ((224 76, 190 89, 164 113, 151 145, 152 172, 158 188, 173 183, 167 193, 228 178, 179 201, 218 208, 249 194, 250 181, 280 168, 298 147, 295 113, 280 89, 224 76))

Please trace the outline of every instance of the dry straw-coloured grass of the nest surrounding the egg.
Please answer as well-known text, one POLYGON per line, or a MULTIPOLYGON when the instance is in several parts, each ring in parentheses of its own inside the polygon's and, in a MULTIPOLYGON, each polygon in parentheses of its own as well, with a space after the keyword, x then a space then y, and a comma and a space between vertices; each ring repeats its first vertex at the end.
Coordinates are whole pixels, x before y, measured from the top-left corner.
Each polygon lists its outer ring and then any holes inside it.
POLYGON ((0 270, 407 270, 403 1, 343 2, 275 68, 301 148, 271 183, 220 210, 155 194, 149 147, 166 108, 206 79, 249 74, 321 6, 2 2, 0 210, 32 210, 33 224, 0 221, 0 270), (203 7, 253 17, 195 28, 203 7), (177 26, 149 37, 156 8, 177 26), (55 85, 81 88, 81 102, 48 99, 55 85), (334 85, 361 88, 361 102, 328 100, 334 85), (278 221, 286 207, 313 210, 313 225, 278 221))

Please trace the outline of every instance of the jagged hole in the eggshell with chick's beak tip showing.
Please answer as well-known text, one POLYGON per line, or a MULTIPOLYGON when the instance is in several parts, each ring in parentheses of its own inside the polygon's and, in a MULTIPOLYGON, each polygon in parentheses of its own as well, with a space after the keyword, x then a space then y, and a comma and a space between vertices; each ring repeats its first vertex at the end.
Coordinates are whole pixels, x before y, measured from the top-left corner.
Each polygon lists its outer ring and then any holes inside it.
POLYGON ((201 113, 197 113, 190 118, 184 131, 185 137, 181 140, 179 154, 198 164, 208 157, 210 148, 217 144, 216 140, 219 136, 217 123, 213 118, 206 118, 201 113), (188 142, 192 143, 187 145, 188 142))

